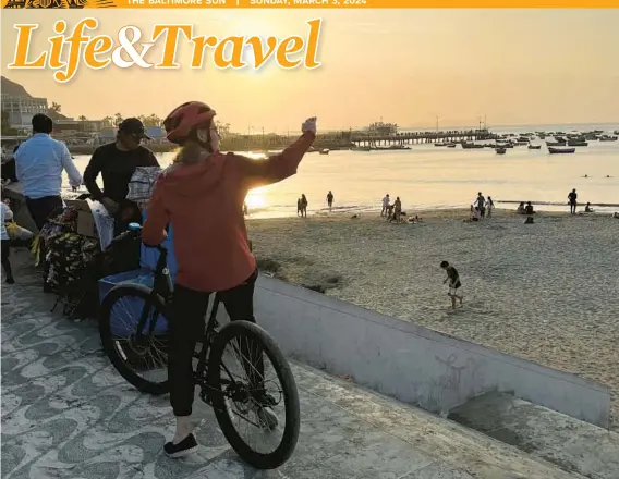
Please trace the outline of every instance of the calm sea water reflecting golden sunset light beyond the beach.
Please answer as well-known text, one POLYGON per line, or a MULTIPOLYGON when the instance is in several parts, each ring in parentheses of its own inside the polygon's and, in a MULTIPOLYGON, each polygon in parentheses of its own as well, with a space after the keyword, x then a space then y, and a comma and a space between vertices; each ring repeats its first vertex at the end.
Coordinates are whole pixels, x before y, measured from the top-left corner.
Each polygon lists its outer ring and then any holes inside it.
MULTIPOLYGON (((496 128, 499 132, 533 132, 618 126, 532 125, 496 128)), ((534 142, 535 143, 535 142, 534 142)), ((412 145, 403 151, 331 151, 308 153, 295 176, 250 192, 247 205, 253 218, 296 214, 296 198, 305 194, 310 213, 326 211, 329 189, 335 210, 368 212, 380 208, 386 193, 399 196, 405 211, 468 208, 477 192, 491 196, 499 208, 514 208, 512 201, 532 201, 538 210, 567 210, 567 195, 576 188, 579 202, 590 201, 596 211, 619 211, 619 142, 590 142, 573 155, 549 155, 526 146, 497 155, 491 148, 462 149, 412 145), (588 177, 584 177, 587 175, 588 177), (610 177, 607 177, 610 176, 610 177)), ((173 153, 159 155, 162 165, 173 153)), ((83 171, 88 156, 77 156, 83 171)))

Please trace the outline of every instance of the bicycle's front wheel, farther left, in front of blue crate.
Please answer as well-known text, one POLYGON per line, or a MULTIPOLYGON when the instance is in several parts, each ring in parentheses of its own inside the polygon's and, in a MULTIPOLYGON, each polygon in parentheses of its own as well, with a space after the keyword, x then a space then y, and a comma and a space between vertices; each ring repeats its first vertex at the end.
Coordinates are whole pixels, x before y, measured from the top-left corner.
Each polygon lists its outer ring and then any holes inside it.
POLYGON ((101 303, 99 334, 118 372, 137 390, 165 394, 168 383, 168 320, 163 299, 141 284, 113 287, 101 303), (137 331, 144 318, 142 331, 137 331))

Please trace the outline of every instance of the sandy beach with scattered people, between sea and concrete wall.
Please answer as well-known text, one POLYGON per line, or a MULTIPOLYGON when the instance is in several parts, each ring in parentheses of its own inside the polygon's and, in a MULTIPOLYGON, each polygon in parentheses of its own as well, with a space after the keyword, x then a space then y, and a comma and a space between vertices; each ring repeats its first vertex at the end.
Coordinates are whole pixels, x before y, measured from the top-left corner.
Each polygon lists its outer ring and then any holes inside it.
POLYGON ((286 281, 599 381, 619 430, 619 220, 496 210, 415 212, 422 224, 315 216, 251 220, 260 267, 286 281), (441 260, 460 272, 450 309, 441 260))

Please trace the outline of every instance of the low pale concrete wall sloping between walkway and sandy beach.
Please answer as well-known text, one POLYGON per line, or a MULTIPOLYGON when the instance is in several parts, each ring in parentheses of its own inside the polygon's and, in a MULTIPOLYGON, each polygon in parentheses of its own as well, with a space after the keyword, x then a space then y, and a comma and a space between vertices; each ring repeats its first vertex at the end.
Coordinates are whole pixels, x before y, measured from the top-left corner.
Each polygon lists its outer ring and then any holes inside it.
POLYGON ((608 427, 604 385, 279 280, 258 280, 256 318, 286 354, 433 413, 498 391, 608 427))

